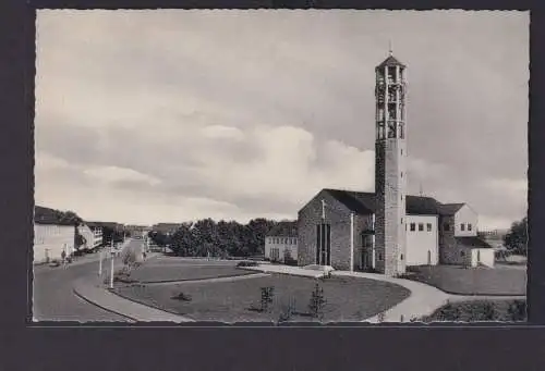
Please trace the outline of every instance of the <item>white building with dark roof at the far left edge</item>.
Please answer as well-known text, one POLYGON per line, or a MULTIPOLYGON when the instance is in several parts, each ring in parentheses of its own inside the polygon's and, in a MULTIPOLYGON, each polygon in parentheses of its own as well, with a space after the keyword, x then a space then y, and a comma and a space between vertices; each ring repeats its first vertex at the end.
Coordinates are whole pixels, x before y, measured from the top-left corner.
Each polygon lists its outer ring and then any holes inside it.
POLYGON ((61 259, 74 252, 75 225, 65 221, 55 209, 34 208, 34 263, 61 259))

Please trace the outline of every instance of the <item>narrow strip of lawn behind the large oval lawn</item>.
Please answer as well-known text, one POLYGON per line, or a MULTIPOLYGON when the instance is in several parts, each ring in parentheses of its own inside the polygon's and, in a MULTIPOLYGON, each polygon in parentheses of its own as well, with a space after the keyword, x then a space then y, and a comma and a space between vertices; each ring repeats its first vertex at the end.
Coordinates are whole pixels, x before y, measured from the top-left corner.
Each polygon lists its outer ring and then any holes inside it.
POLYGON ((219 264, 144 264, 131 273, 131 279, 141 283, 205 280, 235 275, 255 274, 237 269, 234 265, 219 264))

